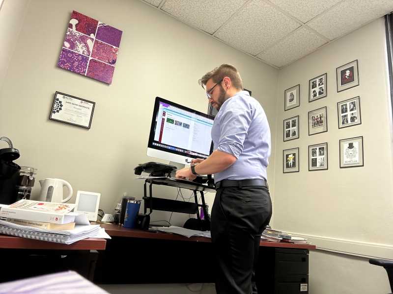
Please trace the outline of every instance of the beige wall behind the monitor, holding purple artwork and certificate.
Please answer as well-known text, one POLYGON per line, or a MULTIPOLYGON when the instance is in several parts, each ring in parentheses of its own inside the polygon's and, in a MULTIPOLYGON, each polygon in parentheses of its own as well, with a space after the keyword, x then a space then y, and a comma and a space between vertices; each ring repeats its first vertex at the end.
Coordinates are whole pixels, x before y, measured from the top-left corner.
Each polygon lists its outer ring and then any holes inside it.
MULTIPOLYGON (((20 149, 19 165, 38 168, 39 179, 63 178, 75 192, 101 193, 100 208, 112 213, 123 192, 142 197, 134 167, 157 161, 146 156, 155 97, 206 112, 208 101, 197 80, 222 63, 239 69, 275 130, 277 69, 137 0, 34 0, 0 90, 0 134, 20 149), (73 10, 123 31, 112 85, 56 67, 73 10), (96 102, 90 130, 48 120, 56 91, 96 102)), ((272 168, 269 172, 273 177, 272 168)), ((177 194, 172 188, 154 191, 177 194)), ((38 193, 37 183, 33 196, 38 193)), ((207 195, 208 203, 213 197, 207 195)), ((153 218, 169 216, 155 212, 153 218)), ((188 218, 174 215, 171 222, 182 225, 188 218)))

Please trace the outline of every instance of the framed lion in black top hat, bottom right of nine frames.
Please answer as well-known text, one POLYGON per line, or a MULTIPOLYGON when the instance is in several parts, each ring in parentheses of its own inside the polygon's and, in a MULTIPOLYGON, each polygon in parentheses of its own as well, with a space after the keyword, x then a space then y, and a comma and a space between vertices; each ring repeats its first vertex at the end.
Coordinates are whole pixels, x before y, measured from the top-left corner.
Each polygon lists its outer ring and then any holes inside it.
POLYGON ((342 139, 340 142, 340 169, 363 167, 363 136, 342 139))

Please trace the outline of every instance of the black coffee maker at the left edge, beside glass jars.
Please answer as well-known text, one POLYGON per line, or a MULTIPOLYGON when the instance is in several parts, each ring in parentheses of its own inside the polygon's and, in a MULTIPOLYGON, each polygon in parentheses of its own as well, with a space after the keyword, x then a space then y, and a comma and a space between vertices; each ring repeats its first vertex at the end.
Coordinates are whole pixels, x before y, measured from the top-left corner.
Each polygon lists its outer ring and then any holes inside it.
POLYGON ((21 170, 21 167, 13 161, 18 159, 20 154, 7 137, 1 137, 0 141, 5 141, 9 146, 0 149, 0 204, 11 204, 16 201, 15 188, 21 170))

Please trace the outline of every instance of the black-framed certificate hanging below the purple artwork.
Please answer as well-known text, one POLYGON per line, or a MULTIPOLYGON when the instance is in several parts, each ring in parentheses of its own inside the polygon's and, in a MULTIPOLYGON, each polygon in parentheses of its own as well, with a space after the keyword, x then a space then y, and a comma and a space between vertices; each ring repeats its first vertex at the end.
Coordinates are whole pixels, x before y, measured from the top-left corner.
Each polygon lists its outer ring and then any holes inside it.
POLYGON ((56 91, 49 119, 89 129, 94 106, 95 102, 56 91))

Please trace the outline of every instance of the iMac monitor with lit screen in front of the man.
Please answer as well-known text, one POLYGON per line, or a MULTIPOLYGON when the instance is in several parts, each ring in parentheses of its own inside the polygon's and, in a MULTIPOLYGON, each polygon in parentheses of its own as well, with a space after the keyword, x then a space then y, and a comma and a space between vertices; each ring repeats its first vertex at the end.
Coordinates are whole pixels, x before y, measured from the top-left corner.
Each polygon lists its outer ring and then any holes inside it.
POLYGON ((214 118, 156 97, 147 155, 180 164, 210 155, 214 118))

